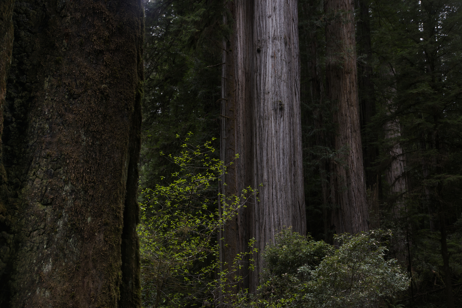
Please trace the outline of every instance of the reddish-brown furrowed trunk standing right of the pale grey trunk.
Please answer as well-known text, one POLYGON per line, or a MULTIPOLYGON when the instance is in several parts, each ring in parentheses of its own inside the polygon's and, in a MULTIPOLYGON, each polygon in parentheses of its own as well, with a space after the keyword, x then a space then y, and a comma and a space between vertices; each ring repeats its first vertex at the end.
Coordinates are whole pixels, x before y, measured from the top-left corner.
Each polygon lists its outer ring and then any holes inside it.
POLYGON ((369 229, 358 105, 355 52, 354 0, 327 0, 326 92, 336 104, 338 131, 334 148, 343 163, 332 162, 330 177, 331 229, 357 233, 369 229))

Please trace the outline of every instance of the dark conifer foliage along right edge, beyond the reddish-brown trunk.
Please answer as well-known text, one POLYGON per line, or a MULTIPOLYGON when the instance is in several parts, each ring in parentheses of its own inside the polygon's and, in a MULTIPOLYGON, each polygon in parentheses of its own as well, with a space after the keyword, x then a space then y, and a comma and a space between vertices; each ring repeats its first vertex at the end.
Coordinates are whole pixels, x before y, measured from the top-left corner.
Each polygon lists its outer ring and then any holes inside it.
POLYGON ((447 0, 377 2, 372 7, 379 110, 373 123, 383 128, 378 166, 404 162, 404 172, 384 184, 384 209, 399 212, 410 235, 406 262, 415 271, 413 293, 427 291, 426 277, 438 272, 448 307, 458 302, 451 284, 462 278, 460 245, 455 245, 462 210, 460 9, 460 1, 447 0), (387 133, 390 121, 397 124, 393 134, 387 133), (397 146, 402 151, 393 151, 397 146), (397 191, 393 188, 400 177, 405 185, 397 191))

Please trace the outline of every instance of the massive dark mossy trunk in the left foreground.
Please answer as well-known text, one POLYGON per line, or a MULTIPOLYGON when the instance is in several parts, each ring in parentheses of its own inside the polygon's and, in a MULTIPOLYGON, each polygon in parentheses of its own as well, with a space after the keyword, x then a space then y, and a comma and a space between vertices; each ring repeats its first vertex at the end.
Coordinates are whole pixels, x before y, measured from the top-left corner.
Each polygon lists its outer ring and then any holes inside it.
POLYGON ((0 305, 139 307, 141 1, 10 4, 0 305))

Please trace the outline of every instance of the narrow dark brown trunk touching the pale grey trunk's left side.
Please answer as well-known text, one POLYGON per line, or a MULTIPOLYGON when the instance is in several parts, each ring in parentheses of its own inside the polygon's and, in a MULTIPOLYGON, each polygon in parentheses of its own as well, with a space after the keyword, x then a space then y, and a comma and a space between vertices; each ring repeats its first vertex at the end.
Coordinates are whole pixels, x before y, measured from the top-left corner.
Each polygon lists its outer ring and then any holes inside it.
MULTIPOLYGON (((220 156, 226 164, 230 164, 221 183, 225 195, 240 195, 244 188, 254 186, 253 159, 253 127, 252 127, 252 96, 253 96, 253 3, 252 1, 225 1, 234 19, 233 33, 223 42, 222 71, 222 103, 221 103, 221 142, 220 156), (239 158, 236 159, 236 154, 239 158)), ((227 22, 226 16, 224 22, 227 22)), ((255 187, 254 187, 255 188, 255 187)), ((229 221, 220 232, 220 258, 227 269, 233 265, 239 252, 248 252, 248 241, 254 237, 254 206, 255 199, 249 200, 246 208, 241 208, 238 215, 229 221)), ((222 204, 223 206, 223 204, 222 204)), ((249 262, 245 258, 243 262, 249 262)), ((226 269, 226 268, 223 268, 226 269)), ((255 279, 247 266, 235 269, 228 275, 227 293, 249 289, 255 284, 255 279), (243 277, 235 281, 234 277, 243 277), (237 284, 237 285, 236 285, 237 284), (233 289, 234 288, 234 289, 233 289)))

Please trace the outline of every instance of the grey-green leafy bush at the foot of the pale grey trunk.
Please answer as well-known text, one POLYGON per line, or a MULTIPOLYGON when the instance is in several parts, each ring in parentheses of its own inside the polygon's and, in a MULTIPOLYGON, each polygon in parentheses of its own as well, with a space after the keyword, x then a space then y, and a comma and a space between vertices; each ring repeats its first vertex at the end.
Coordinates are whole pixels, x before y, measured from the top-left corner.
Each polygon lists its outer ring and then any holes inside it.
POLYGON ((266 269, 256 295, 243 294, 239 307, 378 307, 406 290, 409 278, 395 259, 386 260, 375 230, 335 236, 338 248, 282 231, 264 252, 266 269))

